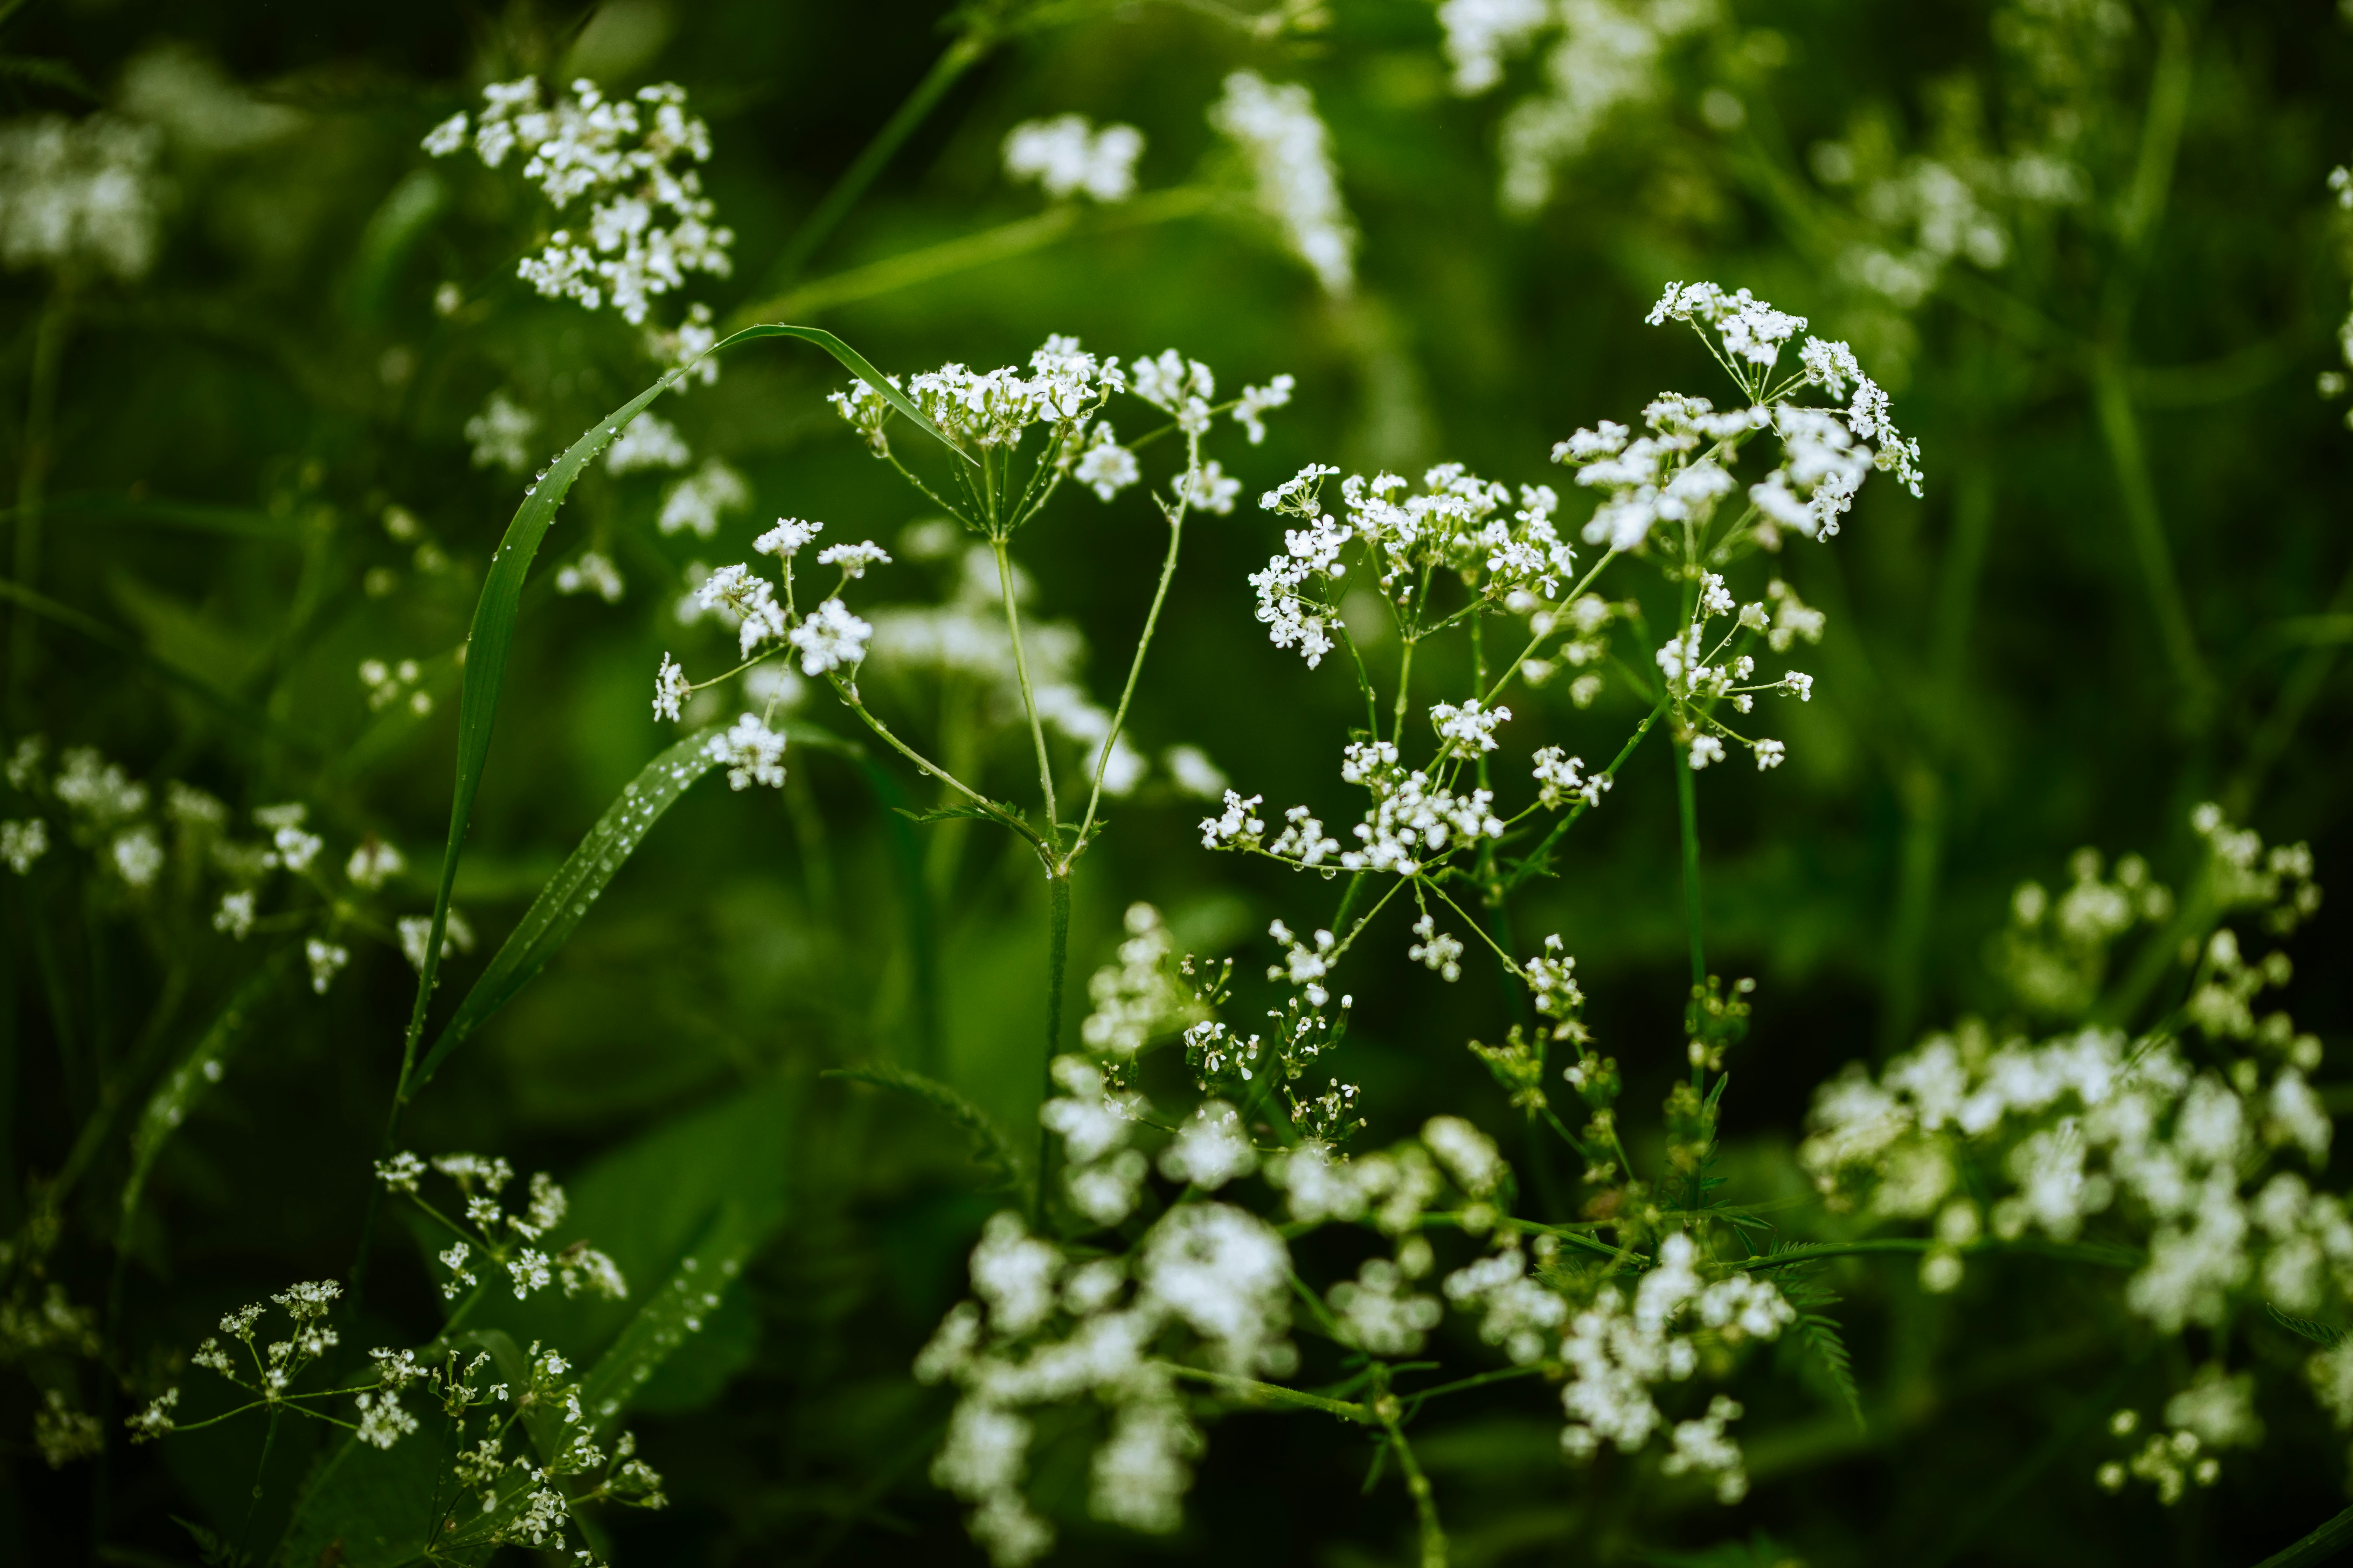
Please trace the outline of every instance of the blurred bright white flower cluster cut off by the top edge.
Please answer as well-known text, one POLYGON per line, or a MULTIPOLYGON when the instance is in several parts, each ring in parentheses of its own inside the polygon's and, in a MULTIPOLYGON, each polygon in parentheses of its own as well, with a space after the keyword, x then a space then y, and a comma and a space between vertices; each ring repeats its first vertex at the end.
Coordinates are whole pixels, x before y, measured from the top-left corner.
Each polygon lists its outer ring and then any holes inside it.
MULTIPOLYGON (((1445 0, 1438 21, 1464 96, 1489 92, 1506 59, 1558 35, 1544 56, 1544 87, 1504 115, 1504 207, 1544 207, 1558 169, 1614 118, 1657 101, 1668 52, 1718 14, 1715 0, 1445 0)), ((1727 101, 1737 115, 1739 101, 1727 101)))

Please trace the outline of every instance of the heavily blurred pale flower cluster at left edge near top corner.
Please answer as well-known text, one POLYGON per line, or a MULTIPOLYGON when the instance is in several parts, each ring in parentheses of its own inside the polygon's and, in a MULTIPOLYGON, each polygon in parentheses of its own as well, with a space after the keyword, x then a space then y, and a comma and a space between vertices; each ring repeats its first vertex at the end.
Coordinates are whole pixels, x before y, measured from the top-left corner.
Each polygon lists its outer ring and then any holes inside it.
POLYGON ((0 266, 146 277, 160 143, 153 127, 115 115, 0 125, 0 266))

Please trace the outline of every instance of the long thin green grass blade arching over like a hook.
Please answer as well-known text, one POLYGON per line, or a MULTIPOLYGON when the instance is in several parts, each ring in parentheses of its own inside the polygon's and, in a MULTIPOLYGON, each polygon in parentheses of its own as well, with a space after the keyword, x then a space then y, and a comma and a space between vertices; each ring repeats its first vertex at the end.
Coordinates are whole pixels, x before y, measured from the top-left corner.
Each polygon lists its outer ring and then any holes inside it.
MULTIPOLYGON (((906 414, 920 430, 927 430, 934 440, 939 440, 939 444, 967 463, 972 461, 962 447, 951 442, 939 425, 922 416, 922 409, 908 402, 906 393, 894 388, 882 371, 868 364, 866 355, 821 327, 746 327, 720 339, 708 353, 725 353, 736 343, 751 343, 753 339, 800 339, 824 348, 828 355, 840 360, 852 376, 871 386, 894 409, 906 414)), ((529 576, 532 557, 539 555, 539 541, 546 538, 548 529, 555 524, 555 512, 572 491, 572 482, 581 477, 581 470, 586 470, 607 444, 612 444, 628 421, 638 418, 647 404, 671 390, 685 371, 687 367, 664 374, 654 386, 624 402, 619 409, 591 425, 576 442, 572 442, 572 447, 522 494, 522 505, 515 508, 515 517, 506 524, 506 536, 499 541, 496 555, 489 557, 489 571, 482 576, 482 597, 473 609, 473 630, 466 635, 466 679, 459 691, 456 710, 456 783, 449 792, 449 839, 442 849, 440 886, 433 893, 433 929, 426 936, 426 964, 424 973, 416 978, 416 1001, 409 1011, 407 1041, 402 1044, 398 1091, 402 1103, 416 1088, 412 1081, 412 1063, 416 1058, 416 1041, 421 1041, 426 1032, 426 1004, 433 999, 433 980, 440 973, 442 933, 449 929, 449 889, 456 884, 456 865, 466 851, 466 823, 473 820, 473 797, 482 788, 482 766, 489 762, 489 733, 499 717, 499 689, 506 684, 506 661, 515 646, 515 618, 522 611, 522 583, 529 576)), ((24 590, 16 592, 21 595, 24 590)), ((442 1044, 435 1044, 435 1053, 447 1056, 442 1044)))

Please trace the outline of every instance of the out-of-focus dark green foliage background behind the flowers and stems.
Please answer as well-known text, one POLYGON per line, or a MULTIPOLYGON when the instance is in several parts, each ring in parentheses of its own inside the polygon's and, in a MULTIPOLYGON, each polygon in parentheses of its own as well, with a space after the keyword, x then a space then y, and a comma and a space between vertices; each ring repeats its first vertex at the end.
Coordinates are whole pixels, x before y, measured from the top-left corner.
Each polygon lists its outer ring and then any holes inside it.
MULTIPOLYGON (((1758 1201, 1793 1199, 1798 1234, 1788 1150, 1812 1086, 1927 1025, 2000 1011, 1986 945, 2019 879, 2049 879, 2080 844, 2179 870, 2188 809, 2209 797, 2266 837, 2311 839, 2322 882, 2353 860, 2353 696, 2337 661, 2353 437, 2341 404, 2313 395, 2339 364, 2346 303, 2325 176, 2353 153, 2353 31, 2332 9, 1729 0, 1664 63, 1666 89, 1612 115, 1532 216, 1499 209, 1497 127, 1537 66, 1511 66, 1499 94, 1454 96, 1424 0, 1337 0, 1329 26, 1280 38, 1219 5, 1033 9, 1019 26, 998 26, 1002 7, 915 0, 9 12, 12 113, 120 99, 127 66, 169 45, 282 115, 209 143, 193 110, 165 115, 169 200, 144 282, 28 270, 0 284, 7 461, 19 477, 42 463, 47 484, 38 581, 21 555, 12 576, 45 599, 9 607, 9 743, 96 745, 158 790, 212 790, 240 820, 306 799, 334 856, 367 835, 405 851, 386 907, 431 905, 456 649, 520 484, 468 461, 464 423, 513 390, 553 449, 652 369, 635 331, 513 280, 539 221, 515 181, 431 162, 419 139, 480 82, 593 75, 678 80, 708 115, 706 181, 739 235, 734 277, 701 289, 722 324, 814 320, 901 374, 1016 362, 1049 331, 1120 355, 1176 346, 1235 386, 1289 371, 1294 407, 1235 463, 1249 494, 1306 461, 1414 473, 1459 458, 1558 480, 1544 458, 1572 428, 1666 386, 1713 386, 1689 339, 1640 324, 1666 280, 1751 287, 1852 339, 1920 437, 1929 494, 1873 487, 1835 550, 1786 559, 1831 614, 1819 693, 1786 719, 1791 764, 1711 773, 1701 818, 1711 957, 1760 983, 1720 1171, 1758 1201), (2028 24, 2052 40, 2021 42, 2028 24), (976 40, 969 61, 864 200, 781 266, 960 40, 976 40), (1040 226, 1035 193, 1000 174, 1009 125, 1080 110, 1144 127, 1146 193, 1219 188, 1231 172, 1202 110, 1238 66, 1313 87, 1365 235, 1353 296, 1325 296, 1231 200, 1148 195, 1136 214, 1040 226), (1995 214, 2000 266, 1953 256, 1911 301, 1859 282, 1857 247, 1908 221, 1873 212, 1871 181, 1918 158, 2019 158, 2061 132, 2080 200, 1995 214), (972 235, 1000 235, 1000 254, 974 263, 958 249, 972 235), (461 289, 454 313, 435 310, 445 282, 461 289), (47 437, 28 397, 45 353, 61 367, 47 437), (388 536, 393 505, 414 536, 388 536), (431 712, 372 710, 353 679, 367 658, 419 661, 431 712)), ((449 959, 440 1009, 668 745, 645 705, 659 656, 727 651, 673 616, 687 562, 741 557, 776 512, 885 543, 922 520, 824 407, 840 381, 824 355, 765 343, 666 402, 696 451, 751 480, 753 508, 718 541, 656 534, 649 477, 593 473, 572 496, 525 592, 456 882, 489 940, 449 959), (551 592, 588 545, 628 578, 619 607, 551 592)), ((1242 576, 1275 538, 1247 505, 1200 520, 1132 722, 1146 750, 1193 741, 1245 790, 1325 804, 1320 736, 1346 729, 1355 696, 1254 625, 1242 576)), ((1158 552, 1141 496, 1064 503, 1019 538, 1038 611, 1094 651, 1096 693, 1120 675, 1158 552)), ((904 559, 868 583, 927 602, 946 571, 904 559)), ((920 684, 875 670, 868 686, 885 712, 929 719, 920 684)), ((1588 712, 1560 698, 1522 715, 1522 738, 1607 755, 1638 715, 1624 689, 1588 712)), ((852 729, 821 703, 802 719, 852 729)), ((986 778, 1014 790, 1021 769, 1021 733, 986 741, 986 778)), ((1558 929, 1579 954, 1635 1100, 1680 1072, 1666 776, 1664 748, 1638 755, 1515 910, 1522 931, 1558 929)), ((412 1147, 558 1171, 584 1234, 631 1281, 661 1281, 713 1215, 741 1227, 741 1281, 638 1394, 673 1507, 612 1519, 616 1561, 974 1556, 925 1479, 946 1401, 908 1361, 1000 1199, 936 1107, 819 1074, 920 1070, 1031 1126, 1045 896, 1019 844, 894 813, 918 797, 913 773, 819 743, 795 743, 784 802, 689 790, 409 1112, 412 1147)), ((1240 954, 1245 976, 1264 957, 1254 933, 1301 919, 1301 884, 1209 860, 1195 818, 1165 785, 1115 804, 1078 884, 1071 1006, 1132 898, 1198 950, 1240 954)), ((59 1378, 118 1427, 167 1380, 151 1347, 193 1345, 289 1279, 346 1274, 412 997, 391 940, 351 936, 325 997, 282 964, 285 985, 216 1046, 219 1088, 158 1147, 118 1234, 129 1112, 292 938, 231 943, 193 896, 134 900, 89 865, 59 846, 0 879, 0 1220, 56 1215, 42 1267, 73 1300, 104 1302, 108 1368, 28 1363, 33 1378, 0 1387, 0 1556, 193 1561, 172 1523, 186 1516, 238 1540, 287 1530, 294 1563, 393 1561, 362 1552, 348 1519, 287 1521, 318 1462, 308 1436, 271 1453, 259 1509, 259 1427, 214 1446, 113 1441, 54 1474, 21 1436, 59 1378)), ((2292 945, 2289 1006, 2325 1039, 2322 1081, 2348 1044, 2346 943, 2327 910, 2292 945)), ((1508 1025, 1506 990, 1485 971, 1445 992, 1417 978, 1400 936, 1358 985, 1348 1051, 1372 1135, 1433 1107, 1506 1128, 1501 1093, 1461 1051, 1508 1025)), ((1534 1171, 1539 1185, 1572 1175, 1534 1171)), ((421 1237, 386 1213, 351 1342, 438 1326, 421 1237)), ((1466 1401, 1417 1429, 1457 1561, 2252 1563, 2341 1507, 2341 1443, 2285 1408, 2266 1413, 2261 1465, 2174 1512, 2094 1493, 2099 1422, 2132 1399, 2148 1352, 2118 1359, 2092 1286, 2054 1265, 1988 1262, 1958 1298, 1922 1295, 1899 1267, 1849 1260, 1826 1276, 1845 1295, 1861 1427, 1835 1387, 1793 1392, 1819 1371, 1755 1380, 1758 1486, 1727 1512, 1649 1481, 1579 1481, 1544 1401, 1466 1401)), ((478 1326, 518 1342, 560 1331, 586 1356, 624 1316, 539 1324, 515 1307, 478 1326)), ((1080 1450, 1056 1460, 1045 1443, 1038 1490, 1068 1512, 1061 1561, 1400 1561, 1407 1502, 1360 1497, 1367 1462, 1337 1425, 1228 1418, 1191 1523, 1165 1542, 1082 1519, 1080 1450)))

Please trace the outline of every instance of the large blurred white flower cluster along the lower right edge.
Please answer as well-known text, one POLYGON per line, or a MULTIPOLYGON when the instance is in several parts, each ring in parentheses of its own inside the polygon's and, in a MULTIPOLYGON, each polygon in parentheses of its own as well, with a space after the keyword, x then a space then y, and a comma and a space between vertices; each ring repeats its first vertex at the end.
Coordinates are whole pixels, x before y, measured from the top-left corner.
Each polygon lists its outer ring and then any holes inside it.
MULTIPOLYGON (((2221 839, 2217 867, 2231 867, 2231 856, 2261 865, 2259 839, 2249 849, 2252 835, 2219 813, 2200 818, 2209 842, 2221 839)), ((2026 903, 2045 903, 2028 886, 2035 898, 2026 903)), ((2080 943, 2106 943, 2141 917, 2153 886, 2146 877, 2101 882, 2097 856, 2078 856, 2066 912, 2033 914, 2061 933, 2073 929, 2080 943)), ((2304 886, 2273 884, 2238 907, 2294 910, 2304 886)), ((2224 926, 2205 940, 2181 1006, 2202 1048, 2113 1027, 1995 1041, 1969 1023, 1878 1074, 1849 1065, 1817 1091, 1800 1164, 1835 1206, 1868 1220, 1927 1220, 1934 1246, 1920 1279, 1932 1291, 1955 1288, 1965 1253, 1988 1237, 2078 1241, 2099 1225, 2146 1253, 2122 1302, 2160 1333, 2219 1326, 2247 1295, 2299 1316, 2341 1316, 2353 1302, 2353 1218, 2341 1197, 2315 1192, 2292 1168, 2318 1168, 2334 1138, 2306 1079, 2320 1065, 2320 1041, 2299 1034, 2287 1013, 2254 1006, 2287 978, 2285 954, 2249 961, 2224 926), (1977 1194, 1988 1192, 2000 1197, 1981 1206, 1977 1194)), ((2066 999, 2092 1006, 2085 990, 2066 999)), ((2315 1356, 2311 1375, 2322 1403, 2353 1425, 2337 1361, 2315 1356)), ((2219 1425, 2193 1406, 2167 1415, 2193 1432, 2188 1446, 2165 1436, 2129 1467, 2167 1500, 2179 1495, 2181 1474, 2198 1469, 2188 1460, 2200 1441, 2224 1446, 2219 1425)), ((2118 1467, 2113 1483, 2125 1474, 2118 1467)))

